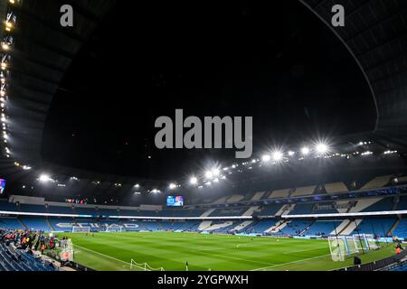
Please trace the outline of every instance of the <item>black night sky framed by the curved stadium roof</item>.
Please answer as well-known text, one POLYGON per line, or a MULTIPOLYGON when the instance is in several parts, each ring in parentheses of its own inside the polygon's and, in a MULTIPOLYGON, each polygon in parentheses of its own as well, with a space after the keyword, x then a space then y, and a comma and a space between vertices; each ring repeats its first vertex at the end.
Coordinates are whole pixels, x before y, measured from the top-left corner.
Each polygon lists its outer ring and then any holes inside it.
POLYGON ((234 150, 156 150, 156 117, 174 117, 175 108, 252 116, 254 154, 372 130, 376 117, 353 58, 298 1, 133 9, 119 1, 54 98, 43 157, 156 179, 232 161, 234 150))

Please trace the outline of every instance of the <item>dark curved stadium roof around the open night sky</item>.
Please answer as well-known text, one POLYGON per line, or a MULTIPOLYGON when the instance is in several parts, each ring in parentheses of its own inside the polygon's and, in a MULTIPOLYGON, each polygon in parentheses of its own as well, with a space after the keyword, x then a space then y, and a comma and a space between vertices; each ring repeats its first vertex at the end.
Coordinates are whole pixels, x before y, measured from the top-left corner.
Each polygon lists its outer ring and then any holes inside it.
MULTIPOLYGON (((48 168, 54 174, 69 176, 78 172, 90 181, 106 178, 116 183, 135 182, 134 178, 97 177, 96 172, 77 171, 43 162, 43 128, 52 98, 85 40, 116 4, 113 0, 72 0, 70 3, 77 13, 75 25, 61 30, 56 23, 59 23, 60 6, 65 2, 22 0, 13 8, 18 19, 7 88, 13 96, 7 107, 7 117, 11 120, 9 131, 13 135, 9 145, 13 155, 0 163, 2 172, 14 179, 33 179, 34 176, 30 175, 33 172, 14 165, 14 162, 19 162, 48 168)), ((329 25, 331 1, 300 2, 329 25)), ((407 144, 407 4, 403 0, 340 2, 346 7, 345 27, 332 28, 332 33, 344 43, 363 70, 378 114, 374 132, 366 132, 364 139, 376 139, 383 147, 387 144, 404 146, 407 144)), ((361 135, 354 138, 360 139, 361 135)))

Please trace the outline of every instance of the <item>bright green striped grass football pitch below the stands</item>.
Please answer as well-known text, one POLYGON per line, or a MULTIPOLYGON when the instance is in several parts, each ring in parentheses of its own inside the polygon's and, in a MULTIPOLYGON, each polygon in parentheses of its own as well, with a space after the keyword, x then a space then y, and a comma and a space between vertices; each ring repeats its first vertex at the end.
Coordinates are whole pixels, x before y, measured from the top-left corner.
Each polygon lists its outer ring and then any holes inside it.
MULTIPOLYGON (((74 261, 102 271, 144 270, 133 259, 166 271, 332 270, 353 258, 333 262, 327 240, 251 238, 174 232, 67 233, 74 261)), ((361 255, 364 263, 393 255, 392 245, 361 255)), ((147 267, 148 268, 148 267, 147 267)))

